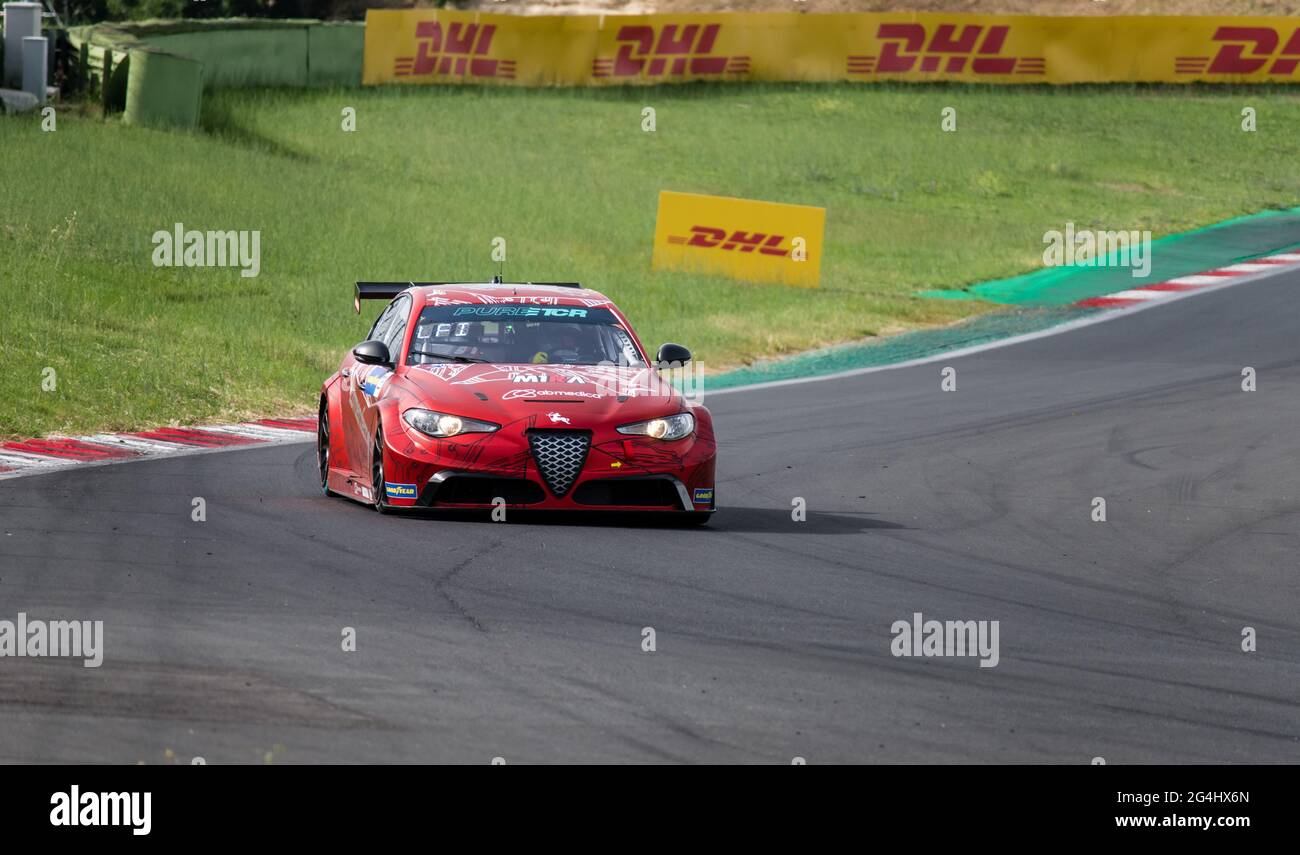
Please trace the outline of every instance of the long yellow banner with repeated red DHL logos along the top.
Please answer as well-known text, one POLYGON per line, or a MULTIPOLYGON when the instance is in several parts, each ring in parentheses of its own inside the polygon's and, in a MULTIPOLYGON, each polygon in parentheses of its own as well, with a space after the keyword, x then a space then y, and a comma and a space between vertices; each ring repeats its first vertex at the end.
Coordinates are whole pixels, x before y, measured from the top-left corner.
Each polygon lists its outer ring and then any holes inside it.
POLYGON ((365 83, 1295 82, 1300 18, 370 9, 365 83))

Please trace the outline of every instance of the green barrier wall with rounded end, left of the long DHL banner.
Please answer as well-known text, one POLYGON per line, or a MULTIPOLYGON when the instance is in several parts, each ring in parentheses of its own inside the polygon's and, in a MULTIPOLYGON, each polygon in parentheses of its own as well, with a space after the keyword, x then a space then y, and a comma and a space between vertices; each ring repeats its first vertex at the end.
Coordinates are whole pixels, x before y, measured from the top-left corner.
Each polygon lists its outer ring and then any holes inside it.
POLYGON ((133 125, 196 127, 207 87, 360 86, 365 25, 139 21, 73 27, 69 39, 107 112, 133 125))

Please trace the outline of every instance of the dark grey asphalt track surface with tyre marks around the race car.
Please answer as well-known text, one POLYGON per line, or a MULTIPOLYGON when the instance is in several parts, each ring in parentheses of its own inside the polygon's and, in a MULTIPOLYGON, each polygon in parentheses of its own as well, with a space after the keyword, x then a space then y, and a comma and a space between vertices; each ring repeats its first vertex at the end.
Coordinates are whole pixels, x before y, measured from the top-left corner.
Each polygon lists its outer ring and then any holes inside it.
POLYGON ((698 530, 380 516, 309 444, 0 483, 0 619, 107 633, 0 659, 0 760, 1300 761, 1297 305, 718 395, 698 530), (890 655, 918 611, 998 665, 890 655))

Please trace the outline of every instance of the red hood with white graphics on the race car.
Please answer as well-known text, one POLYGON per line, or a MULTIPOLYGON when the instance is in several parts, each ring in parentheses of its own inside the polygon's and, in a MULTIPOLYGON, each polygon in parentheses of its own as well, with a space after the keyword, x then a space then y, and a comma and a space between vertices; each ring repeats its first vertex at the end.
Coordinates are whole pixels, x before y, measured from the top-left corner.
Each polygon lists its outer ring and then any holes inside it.
POLYGON ((679 412, 677 390, 650 368, 612 365, 413 365, 406 383, 422 405, 507 424, 556 413, 558 426, 593 426, 679 412))

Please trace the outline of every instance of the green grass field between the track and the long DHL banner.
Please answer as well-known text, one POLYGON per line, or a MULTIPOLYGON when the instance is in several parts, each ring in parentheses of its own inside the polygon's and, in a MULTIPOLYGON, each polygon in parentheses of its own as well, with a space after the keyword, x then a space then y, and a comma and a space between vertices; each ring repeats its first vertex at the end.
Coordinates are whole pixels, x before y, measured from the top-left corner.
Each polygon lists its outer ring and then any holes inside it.
POLYGON ((1067 220, 1160 236, 1300 204, 1297 107, 1275 87, 399 87, 211 92, 198 134, 0 118, 0 435, 309 412, 378 309, 352 314, 354 279, 485 278, 495 235, 507 277, 598 287, 711 369, 952 322, 992 307, 915 292, 1035 269, 1067 220), (651 273, 660 188, 824 205, 823 287, 651 273), (260 230, 261 275, 153 268, 177 221, 260 230))

